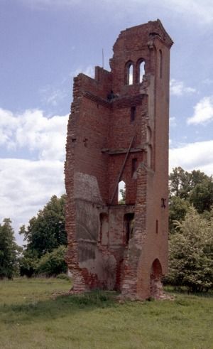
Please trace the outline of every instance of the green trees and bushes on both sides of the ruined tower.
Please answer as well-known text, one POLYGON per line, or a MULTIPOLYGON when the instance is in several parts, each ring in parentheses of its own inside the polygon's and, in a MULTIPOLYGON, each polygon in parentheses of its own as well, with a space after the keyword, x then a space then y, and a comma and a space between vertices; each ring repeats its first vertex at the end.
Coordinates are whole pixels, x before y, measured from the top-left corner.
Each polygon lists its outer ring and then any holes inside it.
MULTIPOLYGON (((190 291, 213 288, 213 179, 201 171, 174 168, 169 176, 169 272, 165 282, 190 291)), ((0 225, 0 278, 67 271, 65 195, 50 199, 19 232, 16 245, 11 220, 0 225)))

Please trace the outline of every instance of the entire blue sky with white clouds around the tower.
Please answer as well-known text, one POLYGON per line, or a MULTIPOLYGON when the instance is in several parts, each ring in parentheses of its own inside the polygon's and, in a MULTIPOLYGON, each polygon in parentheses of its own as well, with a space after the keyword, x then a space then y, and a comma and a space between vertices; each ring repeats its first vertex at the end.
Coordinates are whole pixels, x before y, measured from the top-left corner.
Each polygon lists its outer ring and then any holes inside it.
POLYGON ((65 192, 72 79, 109 69, 121 30, 160 18, 170 60, 170 168, 213 173, 212 0, 0 0, 0 220, 65 192))

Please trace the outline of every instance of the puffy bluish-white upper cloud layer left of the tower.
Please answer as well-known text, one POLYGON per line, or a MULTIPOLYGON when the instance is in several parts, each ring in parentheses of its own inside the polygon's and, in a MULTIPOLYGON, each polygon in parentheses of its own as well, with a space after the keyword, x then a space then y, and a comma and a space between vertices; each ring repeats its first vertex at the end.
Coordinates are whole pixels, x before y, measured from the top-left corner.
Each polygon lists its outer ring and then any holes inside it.
POLYGON ((65 158, 68 115, 45 117, 41 110, 12 114, 0 109, 0 144, 6 149, 37 151, 38 159, 65 158))

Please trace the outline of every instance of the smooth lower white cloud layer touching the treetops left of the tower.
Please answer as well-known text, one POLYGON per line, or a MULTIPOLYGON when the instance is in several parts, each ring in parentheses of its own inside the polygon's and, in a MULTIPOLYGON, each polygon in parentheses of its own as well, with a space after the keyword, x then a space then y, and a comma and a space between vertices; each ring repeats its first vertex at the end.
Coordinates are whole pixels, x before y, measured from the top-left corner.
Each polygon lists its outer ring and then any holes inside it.
POLYGON ((43 208, 52 195, 65 193, 63 161, 0 159, 0 220, 11 218, 16 230, 43 208))

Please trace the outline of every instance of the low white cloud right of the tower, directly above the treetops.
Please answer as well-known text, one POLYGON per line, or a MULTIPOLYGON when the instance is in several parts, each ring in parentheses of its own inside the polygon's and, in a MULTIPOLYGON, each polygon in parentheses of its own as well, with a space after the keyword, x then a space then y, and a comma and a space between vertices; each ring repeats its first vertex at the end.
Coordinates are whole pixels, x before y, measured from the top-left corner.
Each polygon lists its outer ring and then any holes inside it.
POLYGON ((211 176, 213 174, 213 140, 170 149, 170 171, 176 166, 181 166, 187 171, 200 169, 211 176))

